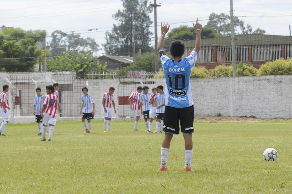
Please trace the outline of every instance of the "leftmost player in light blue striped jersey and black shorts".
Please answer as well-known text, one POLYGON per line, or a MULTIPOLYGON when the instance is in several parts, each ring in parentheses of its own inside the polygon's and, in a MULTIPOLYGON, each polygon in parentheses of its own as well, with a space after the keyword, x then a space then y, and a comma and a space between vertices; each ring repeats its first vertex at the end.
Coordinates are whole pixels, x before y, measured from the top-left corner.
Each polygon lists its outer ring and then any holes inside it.
POLYGON ((42 102, 45 99, 45 96, 41 94, 41 88, 37 87, 36 88, 36 95, 33 101, 33 106, 34 106, 34 111, 33 114, 36 115, 36 123, 38 123, 38 129, 39 133, 38 135, 42 135, 42 115, 41 115, 41 110, 42 110, 42 102))

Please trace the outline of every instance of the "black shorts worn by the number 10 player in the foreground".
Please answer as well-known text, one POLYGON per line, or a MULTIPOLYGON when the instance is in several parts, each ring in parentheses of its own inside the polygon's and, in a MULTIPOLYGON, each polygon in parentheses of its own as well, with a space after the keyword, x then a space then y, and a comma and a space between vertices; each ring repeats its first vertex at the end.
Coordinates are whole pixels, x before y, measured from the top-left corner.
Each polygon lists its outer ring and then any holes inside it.
POLYGON ((165 106, 163 131, 179 134, 179 123, 182 133, 194 132, 194 105, 186 108, 165 106))

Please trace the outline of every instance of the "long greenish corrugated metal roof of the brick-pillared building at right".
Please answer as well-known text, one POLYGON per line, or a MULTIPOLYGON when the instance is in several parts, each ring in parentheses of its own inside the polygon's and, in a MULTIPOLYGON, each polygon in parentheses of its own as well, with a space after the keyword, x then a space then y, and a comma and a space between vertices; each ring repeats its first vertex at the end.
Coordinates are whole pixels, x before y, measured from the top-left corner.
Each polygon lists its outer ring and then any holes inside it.
MULTIPOLYGON (((207 38, 201 40, 201 46, 231 46, 231 37, 207 38)), ((292 36, 278 36, 265 34, 242 34, 235 36, 235 45, 270 45, 292 44, 292 36)), ((184 41, 185 47, 194 47, 195 40, 184 41)))

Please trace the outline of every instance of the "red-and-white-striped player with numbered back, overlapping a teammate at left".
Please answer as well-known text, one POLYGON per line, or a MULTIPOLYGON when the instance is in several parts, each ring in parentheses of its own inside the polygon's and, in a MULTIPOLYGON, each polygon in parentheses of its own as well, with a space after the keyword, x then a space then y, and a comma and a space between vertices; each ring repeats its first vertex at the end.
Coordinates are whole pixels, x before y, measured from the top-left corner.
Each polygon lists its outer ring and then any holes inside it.
POLYGON ((51 141, 54 126, 56 125, 57 119, 57 108, 59 101, 57 96, 54 95, 54 87, 52 85, 46 86, 47 95, 45 96, 44 101, 42 102, 41 114, 43 117, 43 132, 42 132, 42 141, 46 141, 46 130, 49 126, 49 138, 48 141, 51 141))

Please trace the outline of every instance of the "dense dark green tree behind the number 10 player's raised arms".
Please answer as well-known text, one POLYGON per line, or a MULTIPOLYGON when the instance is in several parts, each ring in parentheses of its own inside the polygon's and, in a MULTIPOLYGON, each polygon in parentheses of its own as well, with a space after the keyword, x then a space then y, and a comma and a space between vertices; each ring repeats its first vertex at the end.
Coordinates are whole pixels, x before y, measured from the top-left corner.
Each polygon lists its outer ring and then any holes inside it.
MULTIPOLYGON (((164 41, 164 49, 165 52, 169 52, 170 43, 175 40, 195 40, 196 32, 194 27, 189 27, 187 25, 182 25, 180 27, 172 28, 166 35, 166 39, 164 41)), ((201 31, 201 39, 205 38, 214 38, 214 37, 222 37, 222 34, 218 34, 215 32, 213 28, 203 27, 201 31)))

